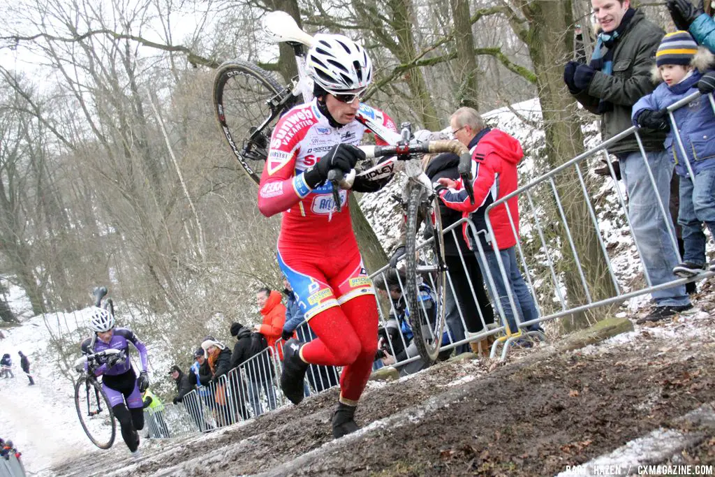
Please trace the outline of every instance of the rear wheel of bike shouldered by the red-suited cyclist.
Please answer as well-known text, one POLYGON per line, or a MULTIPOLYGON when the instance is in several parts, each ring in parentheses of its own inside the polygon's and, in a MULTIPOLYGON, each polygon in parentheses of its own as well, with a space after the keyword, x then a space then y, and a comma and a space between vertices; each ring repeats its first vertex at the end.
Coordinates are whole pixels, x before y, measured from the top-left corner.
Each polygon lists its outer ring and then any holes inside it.
POLYGON ((219 67, 213 98, 226 142, 248 177, 258 184, 273 127, 296 98, 265 69, 242 61, 219 67))

